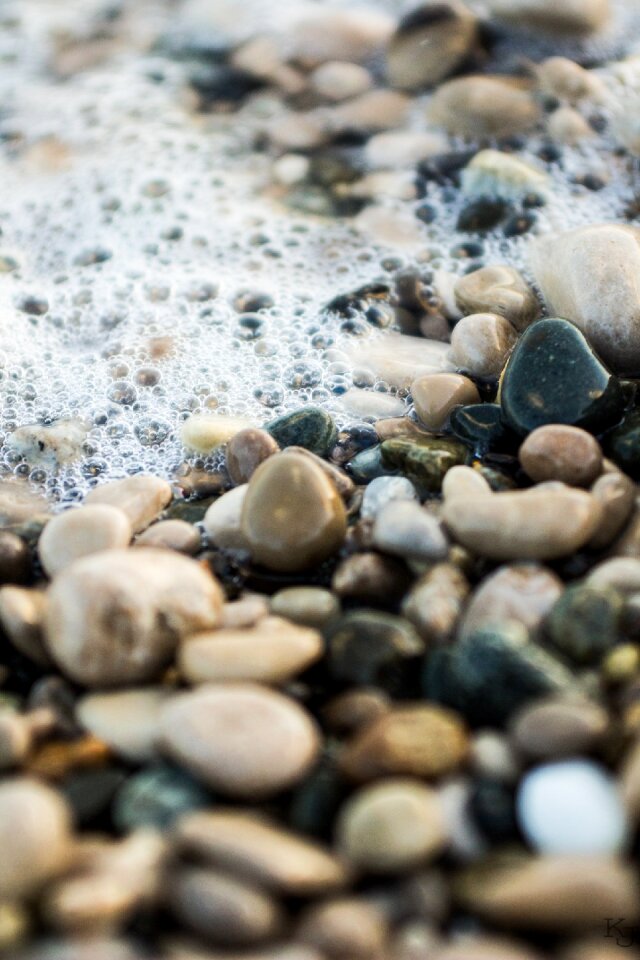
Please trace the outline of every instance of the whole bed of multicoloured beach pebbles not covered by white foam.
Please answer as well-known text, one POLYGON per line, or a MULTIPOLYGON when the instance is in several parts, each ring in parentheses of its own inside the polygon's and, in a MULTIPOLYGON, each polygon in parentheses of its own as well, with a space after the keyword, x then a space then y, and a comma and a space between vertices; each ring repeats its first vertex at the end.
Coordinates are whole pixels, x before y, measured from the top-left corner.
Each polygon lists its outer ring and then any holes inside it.
MULTIPOLYGON (((552 177, 518 156, 611 127, 631 169, 638 103, 607 98, 640 67, 489 73, 512 30, 614 41, 606 0, 488 6, 318 7, 189 60, 195 115, 279 92, 274 202, 406 249, 437 192, 468 269, 336 286, 339 415, 196 407, 169 480, 70 509, 0 480, 3 956, 640 957, 638 208, 538 230, 552 177)), ((55 469, 86 438, 7 443, 55 469)))

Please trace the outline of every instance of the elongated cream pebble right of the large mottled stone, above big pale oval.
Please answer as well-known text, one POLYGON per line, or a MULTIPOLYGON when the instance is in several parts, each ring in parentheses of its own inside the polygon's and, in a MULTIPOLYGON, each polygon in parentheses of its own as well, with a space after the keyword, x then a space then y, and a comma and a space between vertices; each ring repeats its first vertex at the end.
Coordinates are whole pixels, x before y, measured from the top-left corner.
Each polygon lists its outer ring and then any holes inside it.
POLYGON ((178 669, 187 683, 251 680, 283 684, 319 660, 321 635, 280 617, 254 627, 222 628, 189 637, 178 650, 178 669))

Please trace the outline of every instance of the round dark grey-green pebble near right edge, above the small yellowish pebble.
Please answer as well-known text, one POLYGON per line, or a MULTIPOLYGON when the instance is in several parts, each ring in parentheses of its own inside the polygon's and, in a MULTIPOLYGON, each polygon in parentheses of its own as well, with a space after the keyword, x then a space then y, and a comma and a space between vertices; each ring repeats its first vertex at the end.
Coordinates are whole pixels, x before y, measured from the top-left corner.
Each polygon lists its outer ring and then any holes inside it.
POLYGON ((553 605, 546 633, 574 663, 598 664, 620 640, 624 603, 615 590, 574 584, 553 605))

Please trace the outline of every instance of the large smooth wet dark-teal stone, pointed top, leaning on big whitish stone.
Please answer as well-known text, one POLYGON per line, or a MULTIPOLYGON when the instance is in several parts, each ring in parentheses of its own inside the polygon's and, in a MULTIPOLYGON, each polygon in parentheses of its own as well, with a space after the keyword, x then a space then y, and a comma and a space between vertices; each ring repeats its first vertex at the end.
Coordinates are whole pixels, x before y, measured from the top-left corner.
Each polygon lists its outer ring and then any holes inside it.
POLYGON ((533 323, 504 372, 500 403, 506 423, 525 435, 545 423, 602 433, 624 409, 620 383, 584 334, 568 320, 533 323))

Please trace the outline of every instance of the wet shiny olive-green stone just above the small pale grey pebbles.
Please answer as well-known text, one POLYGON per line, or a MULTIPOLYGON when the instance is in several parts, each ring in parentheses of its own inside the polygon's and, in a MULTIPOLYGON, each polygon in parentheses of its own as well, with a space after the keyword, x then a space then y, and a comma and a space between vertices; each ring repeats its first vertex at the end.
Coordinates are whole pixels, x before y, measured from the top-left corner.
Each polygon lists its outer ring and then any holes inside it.
POLYGON ((408 477, 421 493, 439 493, 447 470, 465 463, 469 451, 459 440, 429 437, 424 440, 395 438, 382 444, 382 462, 408 477))

